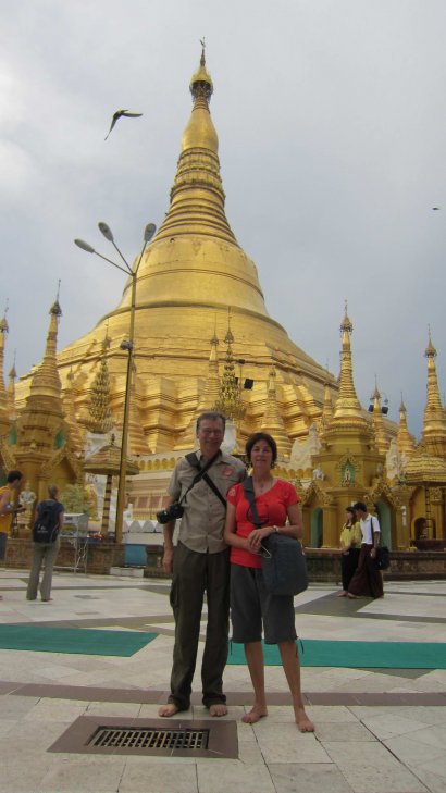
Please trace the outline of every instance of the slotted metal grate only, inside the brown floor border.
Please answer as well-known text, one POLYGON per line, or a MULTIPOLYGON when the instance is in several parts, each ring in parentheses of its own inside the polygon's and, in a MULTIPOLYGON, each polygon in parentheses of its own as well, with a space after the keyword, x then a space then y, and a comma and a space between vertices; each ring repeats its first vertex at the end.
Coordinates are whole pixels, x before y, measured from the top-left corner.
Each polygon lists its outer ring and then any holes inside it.
POLYGON ((98 748, 207 749, 209 730, 110 729, 100 727, 88 746, 98 748))

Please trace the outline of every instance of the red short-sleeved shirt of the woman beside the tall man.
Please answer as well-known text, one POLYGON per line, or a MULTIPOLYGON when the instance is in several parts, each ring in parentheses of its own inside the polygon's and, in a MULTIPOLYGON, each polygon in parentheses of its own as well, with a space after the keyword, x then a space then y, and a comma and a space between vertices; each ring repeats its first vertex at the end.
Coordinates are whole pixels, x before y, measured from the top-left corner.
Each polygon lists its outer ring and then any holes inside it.
MULTIPOLYGON (((235 507, 236 534, 246 538, 255 529, 252 523, 252 512, 244 492, 243 484, 231 487, 227 492, 227 500, 235 507)), ((288 507, 300 501, 296 493, 296 488, 290 482, 277 479, 273 486, 256 496, 256 508, 259 521, 263 525, 285 525, 288 507)), ((231 561, 233 565, 241 565, 244 567, 261 568, 262 561, 258 554, 252 554, 245 548, 231 548, 231 561)))

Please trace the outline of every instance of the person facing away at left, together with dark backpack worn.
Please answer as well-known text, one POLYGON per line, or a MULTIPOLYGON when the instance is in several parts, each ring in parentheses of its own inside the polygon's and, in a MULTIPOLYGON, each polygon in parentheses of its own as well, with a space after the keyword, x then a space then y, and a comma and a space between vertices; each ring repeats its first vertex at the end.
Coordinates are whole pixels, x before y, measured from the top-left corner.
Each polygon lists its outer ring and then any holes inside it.
POLYGON ((49 485, 48 498, 36 507, 33 526, 33 565, 29 573, 26 598, 35 600, 39 588, 41 566, 45 563, 40 584, 41 599, 51 600, 52 569, 60 548, 60 531, 63 525, 63 504, 58 500, 57 485, 49 485))

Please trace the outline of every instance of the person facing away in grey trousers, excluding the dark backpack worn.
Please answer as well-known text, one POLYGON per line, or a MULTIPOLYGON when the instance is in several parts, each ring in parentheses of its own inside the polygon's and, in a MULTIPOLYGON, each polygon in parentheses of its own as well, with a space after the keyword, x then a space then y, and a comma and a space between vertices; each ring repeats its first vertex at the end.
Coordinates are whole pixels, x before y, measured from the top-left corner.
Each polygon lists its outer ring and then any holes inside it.
POLYGON ((36 521, 42 518, 44 510, 50 509, 54 520, 54 540, 48 543, 33 543, 33 565, 29 573, 26 598, 35 600, 39 586, 41 566, 45 562, 44 578, 40 584, 40 596, 45 603, 51 600, 52 569, 60 548, 60 531, 63 525, 63 504, 58 499, 59 490, 57 485, 49 485, 47 500, 40 501, 36 507, 36 521))

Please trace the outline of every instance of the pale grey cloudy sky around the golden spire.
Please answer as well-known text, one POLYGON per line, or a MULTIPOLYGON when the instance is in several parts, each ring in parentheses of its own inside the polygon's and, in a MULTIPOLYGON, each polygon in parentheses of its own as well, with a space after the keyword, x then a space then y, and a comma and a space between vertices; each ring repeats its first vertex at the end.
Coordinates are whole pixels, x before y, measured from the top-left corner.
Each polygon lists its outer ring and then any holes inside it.
POLYGON ((199 39, 214 82, 226 214, 270 314, 337 374, 344 301, 355 383, 389 418, 425 405, 428 326, 446 388, 444 0, 0 0, 0 312, 5 368, 119 302, 106 220, 133 259, 169 206, 199 39), (117 108, 122 120, 104 141, 117 108), (433 207, 441 207, 433 211, 433 207))

